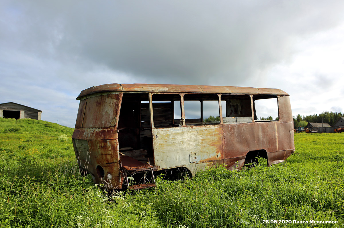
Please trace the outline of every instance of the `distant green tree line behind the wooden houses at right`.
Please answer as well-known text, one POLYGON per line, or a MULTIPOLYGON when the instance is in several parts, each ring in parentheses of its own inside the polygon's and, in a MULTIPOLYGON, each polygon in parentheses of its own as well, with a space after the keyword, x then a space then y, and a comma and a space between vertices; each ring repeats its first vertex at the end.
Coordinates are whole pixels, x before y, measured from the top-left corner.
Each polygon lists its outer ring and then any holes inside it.
POLYGON ((322 112, 319 115, 313 114, 310 116, 301 116, 300 114, 294 119, 294 128, 305 127, 308 123, 328 123, 330 126, 333 126, 343 114, 341 112, 322 112))

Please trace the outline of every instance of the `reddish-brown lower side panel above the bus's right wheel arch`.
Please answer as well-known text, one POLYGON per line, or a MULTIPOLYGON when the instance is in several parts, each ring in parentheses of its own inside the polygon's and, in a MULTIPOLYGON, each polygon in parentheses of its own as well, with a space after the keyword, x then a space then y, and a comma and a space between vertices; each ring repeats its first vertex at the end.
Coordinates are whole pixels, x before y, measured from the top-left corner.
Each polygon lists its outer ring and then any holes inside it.
POLYGON ((277 122, 224 124, 225 159, 246 156, 254 150, 277 151, 277 122))

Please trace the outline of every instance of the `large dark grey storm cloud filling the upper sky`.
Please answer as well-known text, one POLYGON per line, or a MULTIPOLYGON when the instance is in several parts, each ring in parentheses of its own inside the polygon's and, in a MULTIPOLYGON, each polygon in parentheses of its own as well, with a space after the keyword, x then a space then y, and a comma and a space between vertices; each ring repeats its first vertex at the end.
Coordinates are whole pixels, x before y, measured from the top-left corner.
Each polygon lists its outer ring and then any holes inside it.
MULTIPOLYGON (((28 1, 3 6, 1 31, 11 35, 1 39, 38 58, 74 63, 84 72, 104 66, 137 81, 217 85, 242 83, 288 59, 297 39, 335 26, 343 10, 342 1, 28 1)), ((71 79, 68 73, 57 77, 71 79)))

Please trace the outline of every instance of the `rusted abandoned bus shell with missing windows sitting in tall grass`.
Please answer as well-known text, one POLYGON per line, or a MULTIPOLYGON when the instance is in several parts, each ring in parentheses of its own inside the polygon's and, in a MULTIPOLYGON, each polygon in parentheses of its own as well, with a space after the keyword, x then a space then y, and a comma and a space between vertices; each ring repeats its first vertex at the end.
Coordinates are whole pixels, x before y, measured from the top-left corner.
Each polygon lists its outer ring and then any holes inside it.
POLYGON ((241 169, 256 158, 270 166, 295 150, 289 95, 279 89, 107 84, 76 99, 72 139, 80 172, 108 191, 155 186, 153 171, 195 175, 216 164, 241 169), (261 106, 265 101, 272 103, 261 106), (272 109, 275 119, 261 118, 272 109), (217 118, 205 118, 209 113, 217 118), (135 173, 143 181, 130 185, 135 173))

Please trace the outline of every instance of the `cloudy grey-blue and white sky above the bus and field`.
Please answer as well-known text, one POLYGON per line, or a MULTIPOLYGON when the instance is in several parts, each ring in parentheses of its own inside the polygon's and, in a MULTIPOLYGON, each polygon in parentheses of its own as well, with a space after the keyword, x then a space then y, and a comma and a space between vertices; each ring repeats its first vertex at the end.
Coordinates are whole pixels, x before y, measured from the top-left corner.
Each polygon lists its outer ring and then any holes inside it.
POLYGON ((344 1, 0 1, 0 103, 74 127, 108 83, 278 88, 344 112, 344 1))

